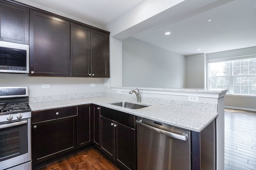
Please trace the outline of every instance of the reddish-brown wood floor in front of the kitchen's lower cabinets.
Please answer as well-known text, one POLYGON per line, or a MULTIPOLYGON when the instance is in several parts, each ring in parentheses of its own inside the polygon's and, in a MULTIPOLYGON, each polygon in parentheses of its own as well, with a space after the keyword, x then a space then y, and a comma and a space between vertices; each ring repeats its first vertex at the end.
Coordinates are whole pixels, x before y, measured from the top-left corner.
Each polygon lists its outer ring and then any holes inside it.
POLYGON ((55 160, 35 170, 119 170, 94 147, 67 154, 64 158, 55 160))

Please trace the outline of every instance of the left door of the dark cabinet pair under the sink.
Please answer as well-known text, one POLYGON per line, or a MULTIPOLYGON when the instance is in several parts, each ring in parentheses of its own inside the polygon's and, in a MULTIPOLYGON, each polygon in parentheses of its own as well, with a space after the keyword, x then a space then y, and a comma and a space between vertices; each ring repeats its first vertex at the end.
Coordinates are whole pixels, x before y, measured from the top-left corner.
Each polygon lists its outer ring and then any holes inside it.
POLYGON ((100 150, 114 159, 114 121, 100 116, 100 150))

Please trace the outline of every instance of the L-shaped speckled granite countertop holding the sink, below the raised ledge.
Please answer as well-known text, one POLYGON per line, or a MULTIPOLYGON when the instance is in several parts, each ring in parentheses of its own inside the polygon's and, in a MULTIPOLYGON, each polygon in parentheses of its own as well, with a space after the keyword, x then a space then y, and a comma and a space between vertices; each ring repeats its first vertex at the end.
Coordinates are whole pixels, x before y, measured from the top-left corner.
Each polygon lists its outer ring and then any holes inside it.
POLYGON ((148 118, 154 121, 166 123, 176 127, 188 129, 191 131, 200 132, 212 120, 214 120, 218 113, 211 113, 206 111, 196 111, 191 109, 184 109, 180 107, 165 106, 152 103, 141 102, 139 104, 146 105, 141 109, 128 109, 120 106, 112 105, 115 102, 130 102, 137 103, 136 101, 122 100, 110 97, 94 97, 94 98, 81 98, 72 100, 59 100, 52 102, 37 102, 30 103, 32 111, 54 109, 60 107, 76 106, 82 104, 96 104, 110 109, 123 111, 132 115, 148 118))

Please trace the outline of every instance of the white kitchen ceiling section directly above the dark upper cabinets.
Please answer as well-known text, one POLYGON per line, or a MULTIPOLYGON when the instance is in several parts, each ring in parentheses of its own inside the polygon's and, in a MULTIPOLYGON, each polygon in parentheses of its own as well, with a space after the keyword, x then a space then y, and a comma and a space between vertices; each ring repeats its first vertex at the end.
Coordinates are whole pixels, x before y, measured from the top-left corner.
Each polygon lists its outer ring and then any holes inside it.
POLYGON ((144 0, 16 0, 46 8, 104 26, 144 0))

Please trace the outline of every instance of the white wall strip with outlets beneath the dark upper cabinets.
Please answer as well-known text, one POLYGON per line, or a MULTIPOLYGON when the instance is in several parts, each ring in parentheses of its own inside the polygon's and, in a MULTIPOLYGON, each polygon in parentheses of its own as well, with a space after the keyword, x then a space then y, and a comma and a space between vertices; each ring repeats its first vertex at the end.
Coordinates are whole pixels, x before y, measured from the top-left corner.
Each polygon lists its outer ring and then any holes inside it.
POLYGON ((0 87, 28 86, 29 97, 104 92, 103 78, 29 77, 28 74, 0 74, 0 87), (95 87, 91 87, 91 83, 95 87), (50 84, 50 88, 42 88, 50 84))

